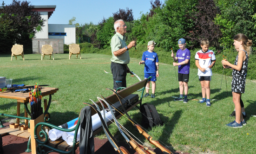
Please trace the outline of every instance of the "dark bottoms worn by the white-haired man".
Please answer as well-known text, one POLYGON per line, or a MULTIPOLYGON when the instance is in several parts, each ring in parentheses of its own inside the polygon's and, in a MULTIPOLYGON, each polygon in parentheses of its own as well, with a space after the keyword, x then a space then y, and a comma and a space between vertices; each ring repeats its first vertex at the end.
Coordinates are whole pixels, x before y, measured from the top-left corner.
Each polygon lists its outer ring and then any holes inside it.
POLYGON ((111 71, 113 75, 113 89, 116 90, 119 87, 126 87, 126 64, 111 63, 111 71))

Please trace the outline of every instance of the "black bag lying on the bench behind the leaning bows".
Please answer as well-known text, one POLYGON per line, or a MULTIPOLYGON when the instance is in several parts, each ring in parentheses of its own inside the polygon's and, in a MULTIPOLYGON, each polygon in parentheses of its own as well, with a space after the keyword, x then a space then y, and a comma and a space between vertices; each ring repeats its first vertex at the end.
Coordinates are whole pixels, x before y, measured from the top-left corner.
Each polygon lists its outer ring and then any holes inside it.
MULTIPOLYGON (((121 100, 121 102, 124 105, 125 109, 128 109, 131 105, 138 102, 138 94, 131 94, 129 96, 126 96, 124 99, 121 100)), ((120 115, 119 112, 121 112, 121 113, 124 112, 124 110, 121 106, 121 103, 119 101, 117 103, 114 103, 111 106, 112 106, 112 111, 115 116, 120 115), (119 112, 116 109, 118 109, 119 112)), ((106 110, 109 111, 108 108, 106 110)))

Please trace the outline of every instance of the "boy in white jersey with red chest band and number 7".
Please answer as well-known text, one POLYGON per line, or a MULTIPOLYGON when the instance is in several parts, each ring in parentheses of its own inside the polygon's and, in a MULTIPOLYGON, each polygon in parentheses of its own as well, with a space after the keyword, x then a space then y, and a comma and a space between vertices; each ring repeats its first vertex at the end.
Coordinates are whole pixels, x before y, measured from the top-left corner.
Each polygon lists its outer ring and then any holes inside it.
POLYGON ((202 87, 202 101, 206 106, 210 106, 210 81, 212 76, 211 68, 214 66, 216 58, 214 52, 209 50, 209 40, 201 40, 202 50, 197 51, 195 59, 198 68, 198 77, 202 87), (206 97, 207 99, 206 99, 206 97))

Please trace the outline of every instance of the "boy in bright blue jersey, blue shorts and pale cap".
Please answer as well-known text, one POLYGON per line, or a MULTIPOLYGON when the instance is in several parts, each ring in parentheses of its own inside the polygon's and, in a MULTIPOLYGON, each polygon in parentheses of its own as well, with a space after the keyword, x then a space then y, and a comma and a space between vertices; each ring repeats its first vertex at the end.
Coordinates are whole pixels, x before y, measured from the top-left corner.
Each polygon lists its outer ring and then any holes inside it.
POLYGON ((149 41, 148 42, 148 51, 143 52, 142 55, 142 61, 140 61, 138 64, 145 64, 144 67, 144 78, 152 77, 147 85, 146 85, 146 94, 144 97, 149 96, 149 87, 150 87, 150 81, 152 83, 152 94, 151 98, 155 98, 155 90, 156 90, 156 81, 157 77, 159 77, 158 73, 158 54, 154 52, 155 48, 155 42, 154 41, 149 41))

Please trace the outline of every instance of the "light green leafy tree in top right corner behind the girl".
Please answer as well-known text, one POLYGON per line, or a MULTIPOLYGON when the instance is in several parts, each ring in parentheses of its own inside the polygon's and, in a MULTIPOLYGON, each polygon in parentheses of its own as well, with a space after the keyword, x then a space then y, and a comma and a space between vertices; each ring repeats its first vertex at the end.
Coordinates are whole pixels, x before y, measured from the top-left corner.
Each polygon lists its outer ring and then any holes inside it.
MULTIPOLYGON (((256 40, 256 19, 251 17, 256 13, 256 0, 218 0, 217 6, 221 13, 217 14, 215 20, 223 33, 220 39, 222 46, 231 47, 233 37, 237 33, 243 33, 249 39, 256 40)), ((255 50, 255 47, 253 48, 255 50)))

